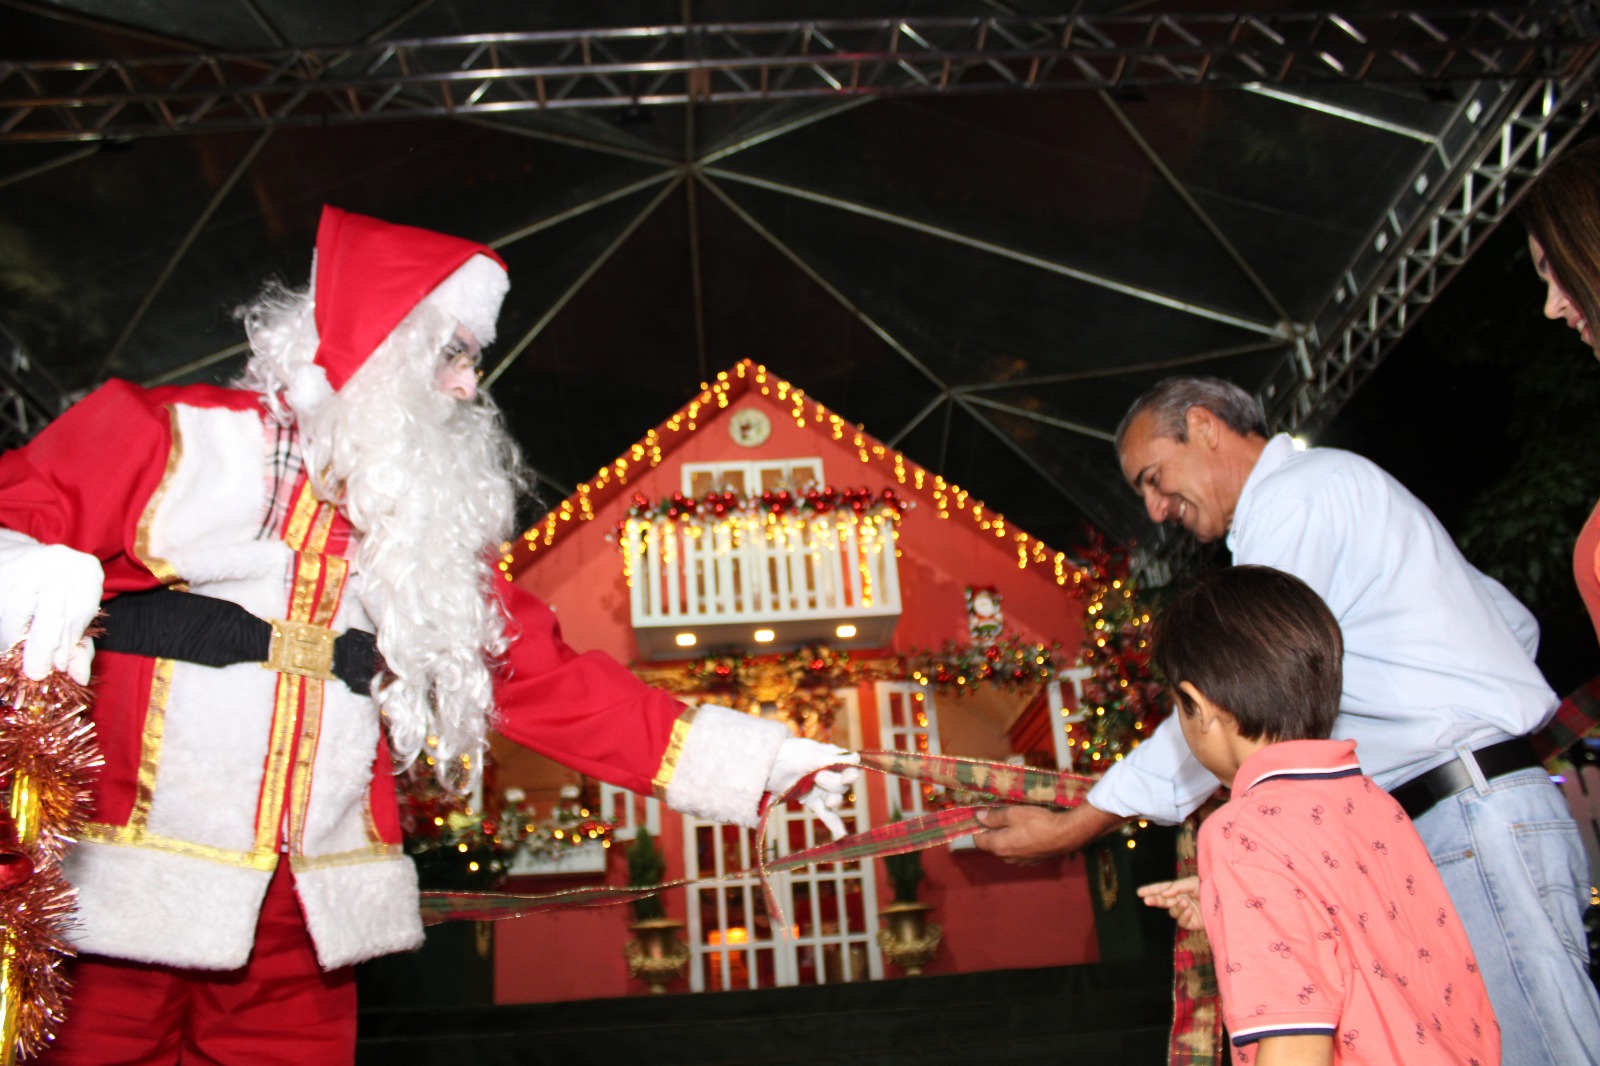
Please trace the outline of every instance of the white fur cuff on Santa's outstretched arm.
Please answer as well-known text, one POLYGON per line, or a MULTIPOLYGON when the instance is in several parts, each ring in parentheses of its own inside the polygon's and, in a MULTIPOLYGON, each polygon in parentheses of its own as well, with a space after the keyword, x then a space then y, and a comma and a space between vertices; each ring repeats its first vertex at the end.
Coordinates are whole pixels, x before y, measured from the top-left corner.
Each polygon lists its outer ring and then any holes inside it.
POLYGON ((754 828, 778 749, 790 736, 779 722, 726 707, 699 707, 667 784, 667 807, 754 828))

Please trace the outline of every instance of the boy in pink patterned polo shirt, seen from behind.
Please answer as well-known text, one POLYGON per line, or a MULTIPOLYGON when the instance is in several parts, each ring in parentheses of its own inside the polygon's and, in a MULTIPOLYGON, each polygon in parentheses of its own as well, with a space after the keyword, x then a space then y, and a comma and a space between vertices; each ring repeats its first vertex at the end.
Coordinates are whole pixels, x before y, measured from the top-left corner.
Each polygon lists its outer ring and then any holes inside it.
POLYGON ((1499 1063, 1466 930, 1400 805, 1330 739, 1344 640, 1302 581, 1202 575, 1155 661, 1184 739, 1232 799, 1200 826, 1200 877, 1146 885, 1216 954, 1234 1061, 1499 1063))

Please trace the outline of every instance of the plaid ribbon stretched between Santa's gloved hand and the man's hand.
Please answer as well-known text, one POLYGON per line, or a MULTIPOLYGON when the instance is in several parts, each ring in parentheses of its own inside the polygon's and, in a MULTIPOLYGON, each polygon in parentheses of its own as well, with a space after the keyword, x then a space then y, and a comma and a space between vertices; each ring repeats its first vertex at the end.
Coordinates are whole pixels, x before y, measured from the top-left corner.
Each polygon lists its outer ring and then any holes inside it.
MULTIPOLYGON (((850 763, 826 767, 838 770, 850 763)), ((925 784, 941 784, 949 789, 976 792, 994 802, 970 807, 947 807, 917 818, 907 818, 888 826, 877 826, 866 832, 856 832, 829 844, 819 844, 794 855, 768 861, 766 828, 774 810, 797 795, 805 795, 811 789, 814 773, 806 775, 781 797, 774 797, 762 813, 757 829, 757 853, 762 861, 755 869, 723 874, 720 877, 680 879, 661 885, 597 885, 590 888, 570 888, 566 892, 550 892, 541 895, 522 895, 507 892, 424 892, 422 922, 434 925, 451 920, 488 922, 496 919, 522 917, 539 911, 566 908, 603 908, 618 903, 632 903, 653 896, 669 888, 686 885, 707 885, 723 880, 739 880, 758 877, 762 892, 766 896, 768 914, 778 928, 789 928, 782 906, 771 887, 771 876, 784 871, 811 866, 813 863, 850 863, 854 860, 902 855, 920 852, 957 837, 965 837, 982 829, 978 812, 998 804, 1034 804, 1042 807, 1075 807, 1094 784, 1094 778, 1058 770, 1038 770, 1034 767, 1014 767, 1003 762, 982 762, 978 759, 957 759, 954 755, 923 755, 902 751, 864 751, 861 767, 874 773, 885 773, 925 784)))

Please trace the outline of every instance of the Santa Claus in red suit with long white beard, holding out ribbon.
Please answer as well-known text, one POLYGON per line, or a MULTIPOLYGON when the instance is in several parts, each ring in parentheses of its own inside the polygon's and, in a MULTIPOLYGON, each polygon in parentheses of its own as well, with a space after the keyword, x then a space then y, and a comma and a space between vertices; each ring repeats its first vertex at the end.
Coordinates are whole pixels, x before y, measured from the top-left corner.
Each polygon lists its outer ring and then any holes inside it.
POLYGON ((350 1061, 350 965, 422 941, 394 771, 470 786, 491 723, 741 824, 848 760, 578 655, 498 575, 522 472, 477 367, 506 291, 483 245, 325 208, 310 287, 242 311, 237 387, 112 381, 0 456, 0 647, 93 666, 106 752, 51 1061, 350 1061))

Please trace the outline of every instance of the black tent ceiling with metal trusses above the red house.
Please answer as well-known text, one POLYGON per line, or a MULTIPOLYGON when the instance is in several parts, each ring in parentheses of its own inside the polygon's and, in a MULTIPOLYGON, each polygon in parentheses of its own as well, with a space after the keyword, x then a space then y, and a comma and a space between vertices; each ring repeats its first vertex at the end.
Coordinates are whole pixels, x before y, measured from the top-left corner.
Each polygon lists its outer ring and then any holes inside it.
POLYGON ((1037 536, 1141 535, 1126 403, 1203 371, 1325 423, 1584 122, 1597 40, 1587 3, 600 6, 0 0, 6 443, 53 389, 235 375, 229 309, 336 203, 506 258, 546 499, 749 357, 1037 536))

